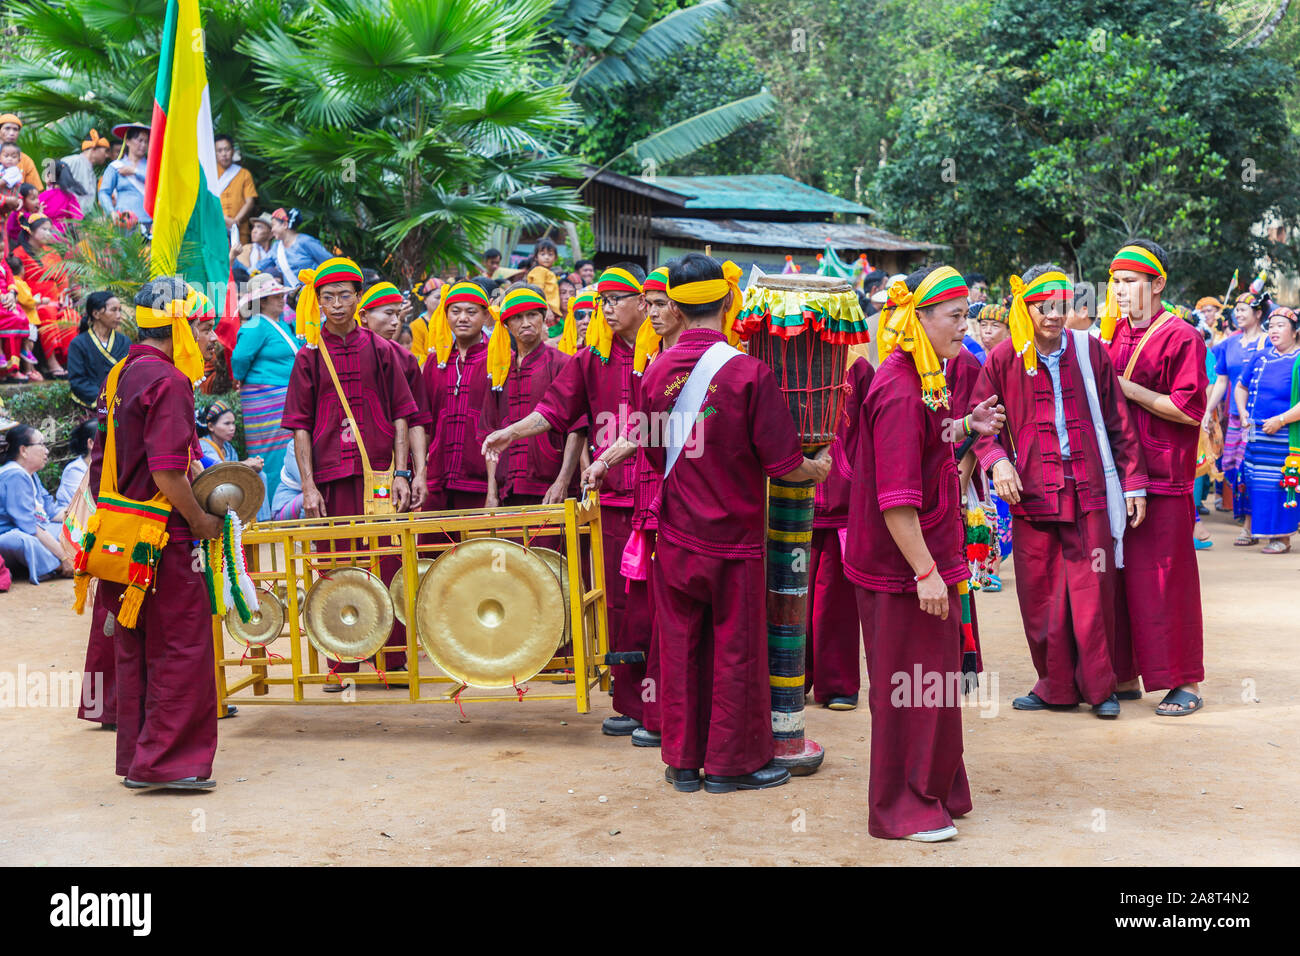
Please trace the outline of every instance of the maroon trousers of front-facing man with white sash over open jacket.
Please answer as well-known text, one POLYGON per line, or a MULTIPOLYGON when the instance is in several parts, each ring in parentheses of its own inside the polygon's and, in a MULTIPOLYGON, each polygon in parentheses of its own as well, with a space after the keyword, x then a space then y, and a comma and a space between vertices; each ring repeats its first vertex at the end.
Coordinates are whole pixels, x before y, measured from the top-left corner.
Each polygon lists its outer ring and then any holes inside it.
POLYGON ((1061 496, 1061 520, 1014 519, 1015 596, 1048 704, 1100 704, 1115 689, 1115 571, 1105 510, 1061 496))

